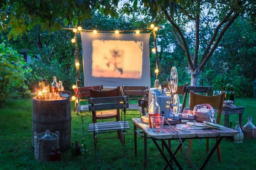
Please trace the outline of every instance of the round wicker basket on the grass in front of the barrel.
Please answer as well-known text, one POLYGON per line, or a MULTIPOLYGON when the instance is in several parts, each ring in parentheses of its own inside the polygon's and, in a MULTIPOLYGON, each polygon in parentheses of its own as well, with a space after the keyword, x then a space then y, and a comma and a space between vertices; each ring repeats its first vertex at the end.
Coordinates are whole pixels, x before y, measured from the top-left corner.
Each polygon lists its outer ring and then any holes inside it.
POLYGON ((52 147, 56 149, 59 146, 60 135, 59 132, 50 133, 55 138, 52 139, 42 139, 45 135, 44 133, 34 133, 34 146, 35 146, 35 159, 37 161, 49 161, 50 153, 52 151, 52 147))

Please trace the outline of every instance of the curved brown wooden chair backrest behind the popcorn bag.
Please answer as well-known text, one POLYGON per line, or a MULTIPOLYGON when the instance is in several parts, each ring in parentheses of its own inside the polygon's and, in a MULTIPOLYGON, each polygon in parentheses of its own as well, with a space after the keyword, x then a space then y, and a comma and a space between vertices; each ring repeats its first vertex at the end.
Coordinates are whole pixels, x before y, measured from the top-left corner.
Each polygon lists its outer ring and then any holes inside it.
POLYGON ((190 109, 194 109, 195 105, 209 104, 213 108, 218 109, 217 124, 221 122, 221 112, 223 107, 223 102, 225 99, 225 92, 217 96, 204 96, 200 94, 195 94, 194 91, 190 91, 190 109))

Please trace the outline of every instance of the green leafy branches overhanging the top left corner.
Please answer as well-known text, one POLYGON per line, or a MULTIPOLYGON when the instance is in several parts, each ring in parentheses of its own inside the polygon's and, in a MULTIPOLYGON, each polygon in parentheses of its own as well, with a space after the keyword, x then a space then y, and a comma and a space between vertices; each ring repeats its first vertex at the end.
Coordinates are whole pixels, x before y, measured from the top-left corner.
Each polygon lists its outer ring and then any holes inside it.
POLYGON ((61 23, 77 26, 92 18, 95 10, 118 18, 119 0, 6 0, 0 3, 0 31, 9 30, 8 40, 28 34, 39 25, 42 31, 61 30, 61 23))

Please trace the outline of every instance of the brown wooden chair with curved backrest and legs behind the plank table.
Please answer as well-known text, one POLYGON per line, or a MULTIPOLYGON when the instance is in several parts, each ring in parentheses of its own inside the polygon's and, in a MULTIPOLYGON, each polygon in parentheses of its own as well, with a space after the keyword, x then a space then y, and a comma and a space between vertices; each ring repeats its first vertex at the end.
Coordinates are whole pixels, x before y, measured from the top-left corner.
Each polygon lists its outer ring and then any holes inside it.
MULTIPOLYGON (((193 109, 195 105, 201 105, 201 104, 209 104, 213 108, 218 109, 217 114, 217 124, 220 124, 221 122, 221 112, 223 107, 223 102, 225 99, 225 92, 222 92, 222 94, 217 96, 203 96, 200 94, 195 94, 194 91, 190 91, 190 108, 193 109)), ((216 139, 217 141, 217 139, 216 139)), ((192 139, 189 139, 189 146, 188 146, 188 156, 190 158, 191 155, 191 148, 192 148, 192 139)), ((206 151, 209 151, 209 139, 206 139, 206 151)), ((221 147, 220 145, 217 148, 218 153, 218 161, 221 163, 221 147)), ((189 164, 189 159, 187 159, 187 164, 189 164)))

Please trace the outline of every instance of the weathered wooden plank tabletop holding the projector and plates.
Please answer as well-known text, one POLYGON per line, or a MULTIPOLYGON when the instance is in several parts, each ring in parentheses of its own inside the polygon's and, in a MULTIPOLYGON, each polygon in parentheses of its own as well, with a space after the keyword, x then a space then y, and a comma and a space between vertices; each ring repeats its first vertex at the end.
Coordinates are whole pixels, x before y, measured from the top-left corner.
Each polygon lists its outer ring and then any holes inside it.
MULTIPOLYGON (((163 126, 163 132, 155 133, 152 131, 151 128, 148 127, 147 123, 144 123, 140 120, 140 118, 133 118, 132 121, 137 126, 141 127, 149 136, 155 139, 178 139, 179 134, 181 139, 188 139, 188 138, 207 138, 207 137, 218 137, 218 136, 234 136, 239 133, 236 130, 230 129, 228 127, 223 127, 223 130, 216 130, 213 128, 208 128, 200 131, 186 131, 186 130, 178 130, 176 129, 177 133, 174 129, 169 127, 169 125, 163 126)), ((172 127, 176 127, 172 125, 172 127)))

